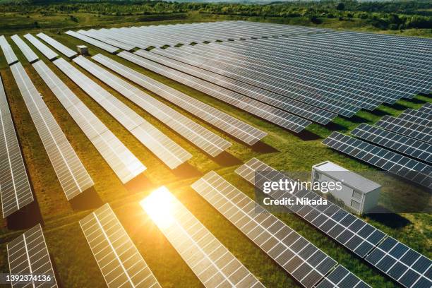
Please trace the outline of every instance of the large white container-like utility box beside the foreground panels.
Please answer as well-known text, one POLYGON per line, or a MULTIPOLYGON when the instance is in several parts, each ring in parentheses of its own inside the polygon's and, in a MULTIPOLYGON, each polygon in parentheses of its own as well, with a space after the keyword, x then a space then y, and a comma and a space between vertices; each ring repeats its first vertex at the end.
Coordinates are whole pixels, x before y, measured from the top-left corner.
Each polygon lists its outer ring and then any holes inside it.
POLYGON ((380 184, 330 161, 313 165, 311 181, 340 182, 342 189, 333 189, 330 193, 359 214, 376 207, 380 198, 380 184))

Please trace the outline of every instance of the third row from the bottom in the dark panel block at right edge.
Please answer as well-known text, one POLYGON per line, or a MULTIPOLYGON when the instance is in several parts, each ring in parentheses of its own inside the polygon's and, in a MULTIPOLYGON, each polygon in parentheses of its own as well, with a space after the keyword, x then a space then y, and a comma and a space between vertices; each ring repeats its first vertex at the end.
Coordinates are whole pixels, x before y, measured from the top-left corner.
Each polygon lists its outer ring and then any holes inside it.
POLYGON ((422 126, 388 115, 383 116, 375 125, 389 131, 400 133, 404 136, 422 140, 426 143, 432 143, 431 127, 422 126))

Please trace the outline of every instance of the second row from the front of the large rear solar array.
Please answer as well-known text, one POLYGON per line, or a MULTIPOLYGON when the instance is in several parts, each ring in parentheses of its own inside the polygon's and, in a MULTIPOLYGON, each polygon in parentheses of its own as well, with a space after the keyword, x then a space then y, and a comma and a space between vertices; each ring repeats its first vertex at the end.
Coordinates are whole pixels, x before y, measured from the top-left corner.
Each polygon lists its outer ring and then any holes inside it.
POLYGON ((155 53, 146 52, 145 50, 138 50, 136 54, 152 61, 157 61, 160 64, 176 68, 177 70, 183 71, 184 73, 208 80, 211 83, 215 83, 216 85, 220 85, 224 88, 233 90, 239 94, 246 95, 252 99, 264 102, 284 111, 303 116, 306 119, 316 121, 320 124, 328 124, 328 122, 332 121, 332 119, 337 116, 337 114, 313 107, 309 104, 305 104, 282 95, 277 95, 274 92, 263 90, 262 88, 249 85, 248 83, 228 78, 211 71, 200 69, 197 66, 192 66, 192 61, 187 61, 176 56, 176 49, 169 49, 169 51, 165 51, 164 49, 153 49, 152 52, 155 52, 158 55, 155 55, 155 53))

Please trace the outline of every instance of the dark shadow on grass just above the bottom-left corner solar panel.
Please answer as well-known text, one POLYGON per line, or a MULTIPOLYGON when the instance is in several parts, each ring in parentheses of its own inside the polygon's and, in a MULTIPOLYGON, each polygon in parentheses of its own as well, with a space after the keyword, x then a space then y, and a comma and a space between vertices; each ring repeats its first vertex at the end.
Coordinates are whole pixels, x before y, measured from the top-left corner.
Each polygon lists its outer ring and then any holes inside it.
POLYGON ((7 226, 11 230, 29 229, 39 223, 43 225, 44 220, 37 200, 7 217, 7 226))

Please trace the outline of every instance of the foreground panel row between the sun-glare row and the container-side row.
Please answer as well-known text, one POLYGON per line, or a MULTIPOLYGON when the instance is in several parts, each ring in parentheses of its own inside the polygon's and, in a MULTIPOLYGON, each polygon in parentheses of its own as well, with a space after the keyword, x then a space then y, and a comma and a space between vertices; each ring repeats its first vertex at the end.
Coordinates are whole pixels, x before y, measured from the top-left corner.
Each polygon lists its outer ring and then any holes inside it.
MULTIPOLYGON (((314 287, 335 268, 335 260, 216 172, 205 174, 191 187, 304 287, 314 287)), ((355 278, 349 287, 369 287, 355 278)))

